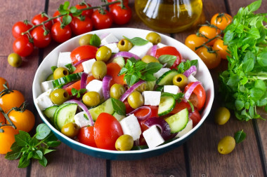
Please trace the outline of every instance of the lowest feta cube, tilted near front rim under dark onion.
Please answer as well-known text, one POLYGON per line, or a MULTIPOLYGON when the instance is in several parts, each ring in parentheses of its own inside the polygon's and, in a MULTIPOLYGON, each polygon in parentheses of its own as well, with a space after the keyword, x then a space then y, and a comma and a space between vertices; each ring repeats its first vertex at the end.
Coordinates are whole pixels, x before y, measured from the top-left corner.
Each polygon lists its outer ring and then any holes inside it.
POLYGON ((144 139, 148 143, 148 148, 155 148, 164 143, 164 139, 160 135, 159 129, 156 125, 153 125, 149 129, 143 132, 144 139))

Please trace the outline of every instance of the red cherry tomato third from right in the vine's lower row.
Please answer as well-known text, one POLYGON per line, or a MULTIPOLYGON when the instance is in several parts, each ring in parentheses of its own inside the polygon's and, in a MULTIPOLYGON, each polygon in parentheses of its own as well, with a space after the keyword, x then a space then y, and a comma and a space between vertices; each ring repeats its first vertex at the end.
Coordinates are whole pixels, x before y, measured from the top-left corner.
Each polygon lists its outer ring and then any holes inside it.
POLYGON ((92 31, 93 22, 90 17, 85 16, 82 20, 80 20, 78 17, 73 17, 70 27, 72 28, 72 32, 74 34, 80 35, 92 31))

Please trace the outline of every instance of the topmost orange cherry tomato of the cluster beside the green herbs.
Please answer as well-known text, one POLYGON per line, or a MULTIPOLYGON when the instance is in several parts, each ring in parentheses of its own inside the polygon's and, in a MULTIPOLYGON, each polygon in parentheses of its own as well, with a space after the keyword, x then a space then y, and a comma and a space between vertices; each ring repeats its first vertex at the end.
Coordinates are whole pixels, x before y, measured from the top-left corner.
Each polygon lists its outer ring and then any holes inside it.
POLYGON ((233 21, 233 17, 227 13, 216 13, 213 17, 211 17, 211 24, 214 24, 219 29, 226 29, 228 24, 233 21))

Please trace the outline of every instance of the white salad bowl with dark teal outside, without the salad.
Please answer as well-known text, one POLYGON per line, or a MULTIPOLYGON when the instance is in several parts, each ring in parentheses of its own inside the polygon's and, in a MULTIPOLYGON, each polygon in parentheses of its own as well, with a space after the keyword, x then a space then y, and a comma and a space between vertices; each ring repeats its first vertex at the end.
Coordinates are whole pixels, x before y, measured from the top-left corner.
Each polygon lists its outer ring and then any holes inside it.
MULTIPOLYGON (((91 31, 89 32, 89 34, 97 34, 98 36, 101 36, 101 34, 112 33, 117 38, 121 39, 123 38, 122 36, 126 36, 127 38, 134 38, 134 37, 145 38, 145 36, 149 32, 151 31, 144 29, 114 28, 114 29, 102 29, 98 31, 91 31)), ((77 46, 79 46, 79 38, 82 35, 71 38, 69 41, 66 41, 65 43, 58 45, 57 48, 52 50, 44 58, 43 62, 41 62, 34 76, 34 82, 32 85, 34 104, 41 117, 41 120, 43 120, 44 123, 46 123, 46 125, 48 125, 48 127, 58 137, 58 139, 63 143, 67 144, 67 146, 70 146, 74 150, 78 150, 79 152, 85 153, 87 155, 91 155, 93 157, 101 157, 108 160, 140 160, 145 157, 160 155, 173 148, 181 146, 181 144, 183 144, 190 136, 192 136, 197 131, 197 129, 202 125, 204 120, 207 118, 207 115, 209 115, 212 103, 214 101, 214 83, 211 78, 211 74, 207 69, 207 66, 205 66, 205 64, 202 62, 200 57, 198 57, 195 54, 195 52, 193 52, 188 47, 183 45, 183 43, 176 41, 176 39, 166 36, 164 34, 160 34, 160 36, 162 37, 161 43, 165 45, 171 45, 177 48, 177 50, 181 52, 181 55, 183 56, 184 59, 189 59, 189 60, 198 59, 197 74, 195 75, 195 78, 197 78, 197 80, 200 80, 202 82, 202 85, 206 90, 206 95, 207 95, 204 108, 202 109, 201 112, 202 119, 200 120, 200 122, 195 127, 193 127, 193 129, 191 129, 190 132, 183 135, 181 138, 178 138, 169 143, 165 143, 162 146, 157 146, 156 148, 148 148, 145 150, 116 151, 116 150, 104 150, 100 148, 93 148, 90 146, 86 146, 82 143, 79 143, 74 139, 70 139, 64 134, 61 134, 60 131, 58 131, 55 127, 53 127, 53 125, 51 125, 51 123, 46 119, 44 113, 42 113, 39 106, 37 106, 37 102, 35 101, 35 99, 37 99, 37 97, 42 93, 41 83, 44 82, 51 73, 51 66, 57 65, 59 52, 71 52, 72 50, 74 50, 74 48, 77 48, 77 46)))

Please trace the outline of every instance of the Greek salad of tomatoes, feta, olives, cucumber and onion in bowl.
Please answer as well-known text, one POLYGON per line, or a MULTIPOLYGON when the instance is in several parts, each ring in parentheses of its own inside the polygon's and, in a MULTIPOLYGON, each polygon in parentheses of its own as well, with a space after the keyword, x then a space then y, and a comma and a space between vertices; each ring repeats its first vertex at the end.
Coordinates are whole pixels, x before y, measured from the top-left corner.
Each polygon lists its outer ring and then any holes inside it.
POLYGON ((59 53, 34 101, 58 131, 87 146, 155 148, 200 122, 206 92, 195 74, 197 59, 183 58, 155 32, 86 34, 59 53))

